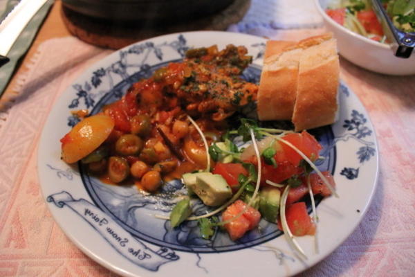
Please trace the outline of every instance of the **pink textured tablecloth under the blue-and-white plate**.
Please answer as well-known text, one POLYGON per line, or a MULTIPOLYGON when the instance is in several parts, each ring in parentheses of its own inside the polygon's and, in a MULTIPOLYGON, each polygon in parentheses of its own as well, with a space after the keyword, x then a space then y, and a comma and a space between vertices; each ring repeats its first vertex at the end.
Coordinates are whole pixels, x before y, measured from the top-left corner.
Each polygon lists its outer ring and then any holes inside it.
MULTIPOLYGON (((314 31, 275 32, 299 39, 314 31)), ((37 144, 54 100, 110 53, 75 38, 53 39, 19 76, 0 113, 0 276, 115 276, 72 244, 40 193, 37 144)), ((378 188, 356 231, 304 276, 415 276, 415 77, 370 73, 342 60, 342 79, 369 111, 380 147, 378 188)))

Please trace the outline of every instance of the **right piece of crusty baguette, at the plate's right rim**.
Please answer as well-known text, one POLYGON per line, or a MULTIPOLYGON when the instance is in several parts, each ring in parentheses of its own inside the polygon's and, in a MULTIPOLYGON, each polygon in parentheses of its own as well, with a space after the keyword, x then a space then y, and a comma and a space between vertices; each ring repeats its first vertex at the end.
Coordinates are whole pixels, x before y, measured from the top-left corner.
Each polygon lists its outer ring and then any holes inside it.
POLYGON ((295 131, 335 122, 340 64, 336 41, 331 34, 299 42, 297 96, 292 121, 295 131))

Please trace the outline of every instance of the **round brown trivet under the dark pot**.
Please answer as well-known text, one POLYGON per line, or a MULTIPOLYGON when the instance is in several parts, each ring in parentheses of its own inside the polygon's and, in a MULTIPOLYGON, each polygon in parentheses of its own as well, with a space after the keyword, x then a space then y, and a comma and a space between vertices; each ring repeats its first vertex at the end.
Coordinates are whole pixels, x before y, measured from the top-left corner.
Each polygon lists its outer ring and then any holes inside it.
POLYGON ((149 37, 178 33, 192 30, 225 30, 230 24, 237 23, 250 8, 251 0, 235 0, 228 8, 208 17, 202 17, 192 22, 169 22, 163 26, 154 24, 118 23, 87 17, 62 6, 62 18, 66 28, 84 42, 105 48, 118 49, 149 37))

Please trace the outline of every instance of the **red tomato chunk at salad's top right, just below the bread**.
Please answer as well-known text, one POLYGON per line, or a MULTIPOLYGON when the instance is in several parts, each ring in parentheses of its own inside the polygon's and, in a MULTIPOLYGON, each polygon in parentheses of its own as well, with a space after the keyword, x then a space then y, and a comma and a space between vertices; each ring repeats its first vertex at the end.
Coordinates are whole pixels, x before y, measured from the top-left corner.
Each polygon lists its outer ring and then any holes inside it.
MULTIPOLYGON (((305 154, 306 157, 311 159, 311 161, 315 161, 315 159, 318 158, 320 150, 322 150, 320 143, 318 143, 314 136, 311 136, 311 134, 306 131, 301 132, 301 134, 287 134, 286 136, 283 136, 282 139, 294 145, 299 151, 305 154)), ((293 148, 285 143, 281 143, 281 145, 286 159, 294 166, 298 166, 299 162, 302 160, 302 157, 293 148)))

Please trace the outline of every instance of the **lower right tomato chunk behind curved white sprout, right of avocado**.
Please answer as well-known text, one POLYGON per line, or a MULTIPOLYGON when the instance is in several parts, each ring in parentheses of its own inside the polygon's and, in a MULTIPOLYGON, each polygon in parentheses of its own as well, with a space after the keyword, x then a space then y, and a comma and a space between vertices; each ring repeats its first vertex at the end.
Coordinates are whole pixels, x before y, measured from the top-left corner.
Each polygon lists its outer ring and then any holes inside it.
MULTIPOLYGON (((302 236, 315 234, 315 223, 307 213, 305 202, 297 202, 287 206, 286 220, 288 228, 293 235, 302 236)), ((278 228, 282 230, 281 220, 278 221, 278 228)))

